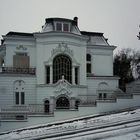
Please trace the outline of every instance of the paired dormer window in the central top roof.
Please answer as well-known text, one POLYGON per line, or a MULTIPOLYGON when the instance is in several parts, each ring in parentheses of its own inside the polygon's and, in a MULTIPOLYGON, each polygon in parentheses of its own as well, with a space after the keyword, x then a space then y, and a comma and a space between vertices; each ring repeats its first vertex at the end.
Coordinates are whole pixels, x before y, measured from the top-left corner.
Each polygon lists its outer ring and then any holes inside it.
POLYGON ((55 29, 56 29, 56 31, 69 32, 70 25, 68 23, 57 22, 55 29))

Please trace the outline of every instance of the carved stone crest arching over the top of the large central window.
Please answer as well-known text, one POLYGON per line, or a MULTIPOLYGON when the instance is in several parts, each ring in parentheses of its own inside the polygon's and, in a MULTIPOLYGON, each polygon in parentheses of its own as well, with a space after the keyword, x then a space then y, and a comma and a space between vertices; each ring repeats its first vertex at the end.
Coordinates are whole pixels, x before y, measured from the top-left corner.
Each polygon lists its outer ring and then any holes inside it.
POLYGON ((58 47, 53 49, 51 53, 52 53, 52 56, 54 56, 58 53, 65 53, 65 54, 70 55, 71 57, 73 56, 73 51, 70 48, 68 48, 66 43, 63 43, 63 42, 59 43, 58 47))

